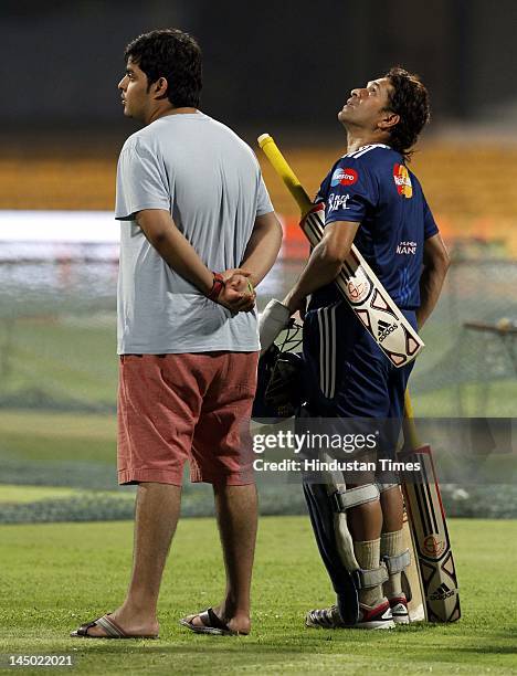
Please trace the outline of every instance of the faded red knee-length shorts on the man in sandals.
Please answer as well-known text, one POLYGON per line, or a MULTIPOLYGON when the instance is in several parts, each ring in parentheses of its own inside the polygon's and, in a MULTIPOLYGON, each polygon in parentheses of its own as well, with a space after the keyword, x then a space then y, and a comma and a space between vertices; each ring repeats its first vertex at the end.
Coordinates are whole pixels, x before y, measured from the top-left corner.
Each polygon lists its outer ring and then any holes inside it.
POLYGON ((250 416, 258 352, 123 355, 118 483, 253 483, 250 416))

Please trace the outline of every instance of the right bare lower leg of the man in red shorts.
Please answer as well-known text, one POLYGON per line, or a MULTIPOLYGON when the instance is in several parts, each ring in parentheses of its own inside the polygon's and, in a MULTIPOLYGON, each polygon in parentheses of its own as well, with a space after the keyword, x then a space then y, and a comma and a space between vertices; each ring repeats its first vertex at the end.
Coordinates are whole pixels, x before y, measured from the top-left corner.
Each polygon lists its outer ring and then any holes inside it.
MULTIPOLYGON (((214 486, 224 567, 226 593, 214 612, 228 626, 242 633, 250 632, 250 590, 255 553, 257 499, 254 484, 246 486, 214 486)), ((199 616, 192 623, 201 625, 199 616)))

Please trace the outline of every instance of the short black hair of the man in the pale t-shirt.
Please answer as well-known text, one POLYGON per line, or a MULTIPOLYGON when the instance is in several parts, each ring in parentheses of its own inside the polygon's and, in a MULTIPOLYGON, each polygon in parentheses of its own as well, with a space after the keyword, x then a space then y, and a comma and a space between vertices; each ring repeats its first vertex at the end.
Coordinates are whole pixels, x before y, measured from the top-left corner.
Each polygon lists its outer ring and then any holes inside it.
POLYGON ((160 77, 168 82, 167 97, 175 108, 197 108, 202 87, 201 49, 177 29, 138 35, 124 52, 147 75, 149 86, 160 77))

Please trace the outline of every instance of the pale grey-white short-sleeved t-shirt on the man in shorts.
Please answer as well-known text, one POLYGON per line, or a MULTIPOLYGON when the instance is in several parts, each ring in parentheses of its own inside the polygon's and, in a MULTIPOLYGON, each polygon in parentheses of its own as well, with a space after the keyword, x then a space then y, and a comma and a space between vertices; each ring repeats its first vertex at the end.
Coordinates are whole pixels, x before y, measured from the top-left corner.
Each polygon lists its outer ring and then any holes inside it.
POLYGON ((203 113, 160 117, 125 142, 117 351, 258 350, 256 314, 232 316, 173 272, 135 221, 143 209, 169 211, 209 270, 239 267, 255 218, 273 211, 251 148, 203 113))

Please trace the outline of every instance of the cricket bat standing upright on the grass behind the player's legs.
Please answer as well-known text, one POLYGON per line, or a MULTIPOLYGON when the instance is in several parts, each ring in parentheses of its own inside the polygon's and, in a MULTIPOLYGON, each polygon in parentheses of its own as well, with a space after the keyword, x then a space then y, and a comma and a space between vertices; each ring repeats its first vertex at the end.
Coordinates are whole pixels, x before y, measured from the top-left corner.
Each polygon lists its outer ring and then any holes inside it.
POLYGON ((460 595, 445 511, 431 448, 419 443, 408 391, 404 443, 405 448, 397 460, 420 465, 418 472, 402 473, 402 487, 419 561, 425 617, 429 622, 455 622, 461 617, 460 595))

